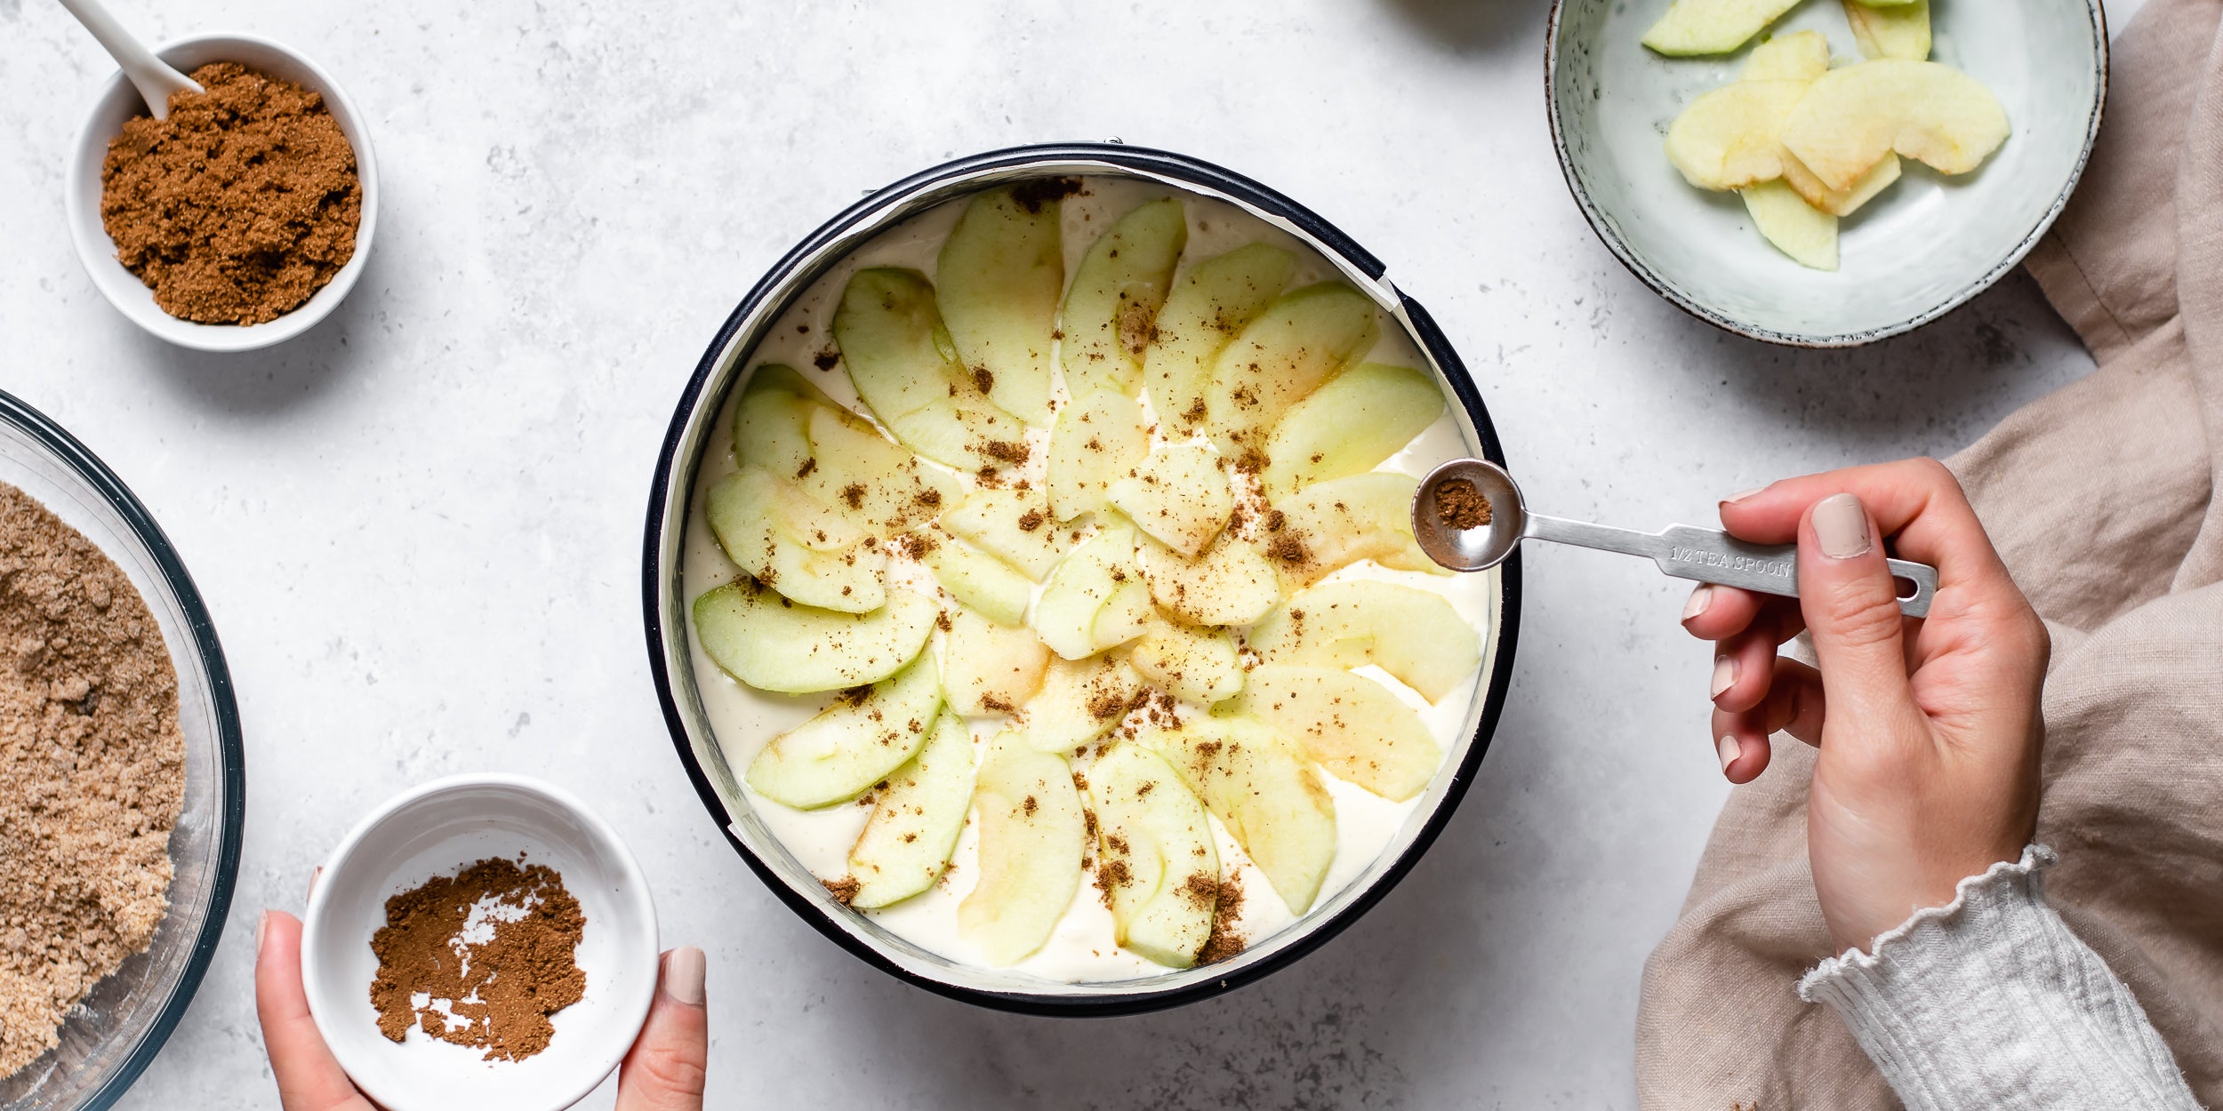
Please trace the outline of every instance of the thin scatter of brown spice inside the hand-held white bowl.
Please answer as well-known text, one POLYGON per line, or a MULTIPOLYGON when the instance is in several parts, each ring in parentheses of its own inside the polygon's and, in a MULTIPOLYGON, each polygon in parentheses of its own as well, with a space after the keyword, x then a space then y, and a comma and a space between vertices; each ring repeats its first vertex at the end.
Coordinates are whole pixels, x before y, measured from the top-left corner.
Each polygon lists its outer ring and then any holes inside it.
POLYGON ((587 995, 585 931, 585 911, 547 864, 494 858, 433 875, 389 898, 371 935, 378 1033, 400 1042, 418 1027, 485 1060, 531 1058, 556 1038, 549 1015, 587 995))

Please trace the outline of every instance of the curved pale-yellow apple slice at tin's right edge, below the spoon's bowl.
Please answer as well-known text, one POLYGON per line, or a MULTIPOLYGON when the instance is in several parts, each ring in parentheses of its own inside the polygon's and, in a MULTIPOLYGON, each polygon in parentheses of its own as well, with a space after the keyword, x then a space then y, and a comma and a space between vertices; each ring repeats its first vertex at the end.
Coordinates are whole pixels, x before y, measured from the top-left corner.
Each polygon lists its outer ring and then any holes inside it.
POLYGON ((1396 582, 1327 582, 1289 595, 1249 631, 1269 664, 1376 664, 1441 702, 1474 675, 1483 642, 1443 595, 1396 582))

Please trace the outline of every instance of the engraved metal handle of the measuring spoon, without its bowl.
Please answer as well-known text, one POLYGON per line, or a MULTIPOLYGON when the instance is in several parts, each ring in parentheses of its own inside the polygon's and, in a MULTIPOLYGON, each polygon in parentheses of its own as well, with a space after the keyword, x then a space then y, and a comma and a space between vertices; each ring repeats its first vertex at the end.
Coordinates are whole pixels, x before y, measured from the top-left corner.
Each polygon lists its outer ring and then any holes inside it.
MULTIPOLYGON (((1669 524, 1658 533, 1638 533, 1634 529, 1547 518, 1543 513, 1529 513, 1521 536, 1554 544, 1643 556, 1674 578, 1798 598, 1796 544, 1747 544, 1721 529, 1698 529, 1696 524, 1669 524)), ((1892 578, 1901 580, 1898 611, 1910 618, 1927 615, 1930 598, 1938 591, 1936 567, 1912 560, 1887 560, 1887 564, 1892 578)))

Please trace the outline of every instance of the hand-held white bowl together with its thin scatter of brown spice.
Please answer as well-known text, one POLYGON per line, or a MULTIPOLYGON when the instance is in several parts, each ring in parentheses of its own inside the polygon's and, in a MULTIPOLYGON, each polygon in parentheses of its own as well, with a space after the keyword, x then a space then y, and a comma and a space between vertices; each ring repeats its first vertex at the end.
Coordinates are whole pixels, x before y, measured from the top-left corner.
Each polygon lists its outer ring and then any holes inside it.
POLYGON ((300 940, 309 1013, 391 1111, 558 1111, 591 1093, 656 995, 656 904, 578 798, 451 775, 333 849, 300 940))

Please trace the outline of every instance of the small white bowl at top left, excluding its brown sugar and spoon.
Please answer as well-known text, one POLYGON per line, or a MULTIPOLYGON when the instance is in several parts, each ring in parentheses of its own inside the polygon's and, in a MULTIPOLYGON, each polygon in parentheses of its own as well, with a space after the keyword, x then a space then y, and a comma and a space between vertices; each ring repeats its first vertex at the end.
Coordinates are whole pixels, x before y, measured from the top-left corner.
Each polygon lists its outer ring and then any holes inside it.
POLYGON ((100 100, 93 102, 93 113, 84 120, 84 129, 78 131, 78 149, 69 158, 69 187, 62 207, 69 218, 69 238, 78 244, 84 271, 116 311, 178 347, 196 351, 253 351, 309 331, 347 298, 347 291, 356 287, 356 278, 362 276, 362 264, 371 258, 371 231, 378 227, 378 158, 371 156, 371 133, 365 127, 362 113, 340 91, 340 84, 331 80, 331 73, 325 73, 325 69, 300 51, 260 36, 189 36, 156 47, 156 53, 185 73, 209 62, 240 62, 247 69, 325 96, 331 120, 340 124, 340 133, 356 149, 356 176, 362 182, 362 224, 356 229, 356 256, 340 267, 340 273, 325 289, 318 289, 298 309, 267 324, 196 324, 165 313, 153 302, 153 289, 147 289, 147 282, 140 282, 122 262, 116 262, 116 240, 100 224, 100 162, 109 153, 109 140, 122 133, 124 120, 147 113, 147 102, 138 89, 118 71, 100 91, 100 100))

